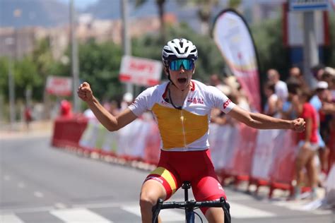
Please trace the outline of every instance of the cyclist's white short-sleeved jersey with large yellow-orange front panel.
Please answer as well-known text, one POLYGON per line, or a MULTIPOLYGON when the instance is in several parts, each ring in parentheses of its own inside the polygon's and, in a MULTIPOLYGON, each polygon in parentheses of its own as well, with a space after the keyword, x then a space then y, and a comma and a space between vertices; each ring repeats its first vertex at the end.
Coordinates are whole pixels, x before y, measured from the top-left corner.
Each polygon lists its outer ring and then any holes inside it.
POLYGON ((168 82, 144 90, 129 109, 136 116, 141 116, 145 111, 152 111, 158 123, 162 150, 208 149, 211 109, 218 108, 228 113, 235 104, 217 88, 192 80, 192 89, 182 109, 175 109, 164 100, 167 87, 168 82))

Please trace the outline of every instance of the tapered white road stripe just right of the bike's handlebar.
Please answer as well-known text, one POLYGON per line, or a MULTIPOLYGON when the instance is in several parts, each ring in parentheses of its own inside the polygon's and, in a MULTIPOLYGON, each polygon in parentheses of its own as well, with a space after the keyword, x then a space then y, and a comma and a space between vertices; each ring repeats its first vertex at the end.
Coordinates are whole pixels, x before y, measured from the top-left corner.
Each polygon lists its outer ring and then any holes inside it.
POLYGON ((230 215, 233 218, 255 218, 255 217, 275 217, 276 214, 259 210, 253 207, 247 207, 237 203, 229 202, 230 204, 230 215))

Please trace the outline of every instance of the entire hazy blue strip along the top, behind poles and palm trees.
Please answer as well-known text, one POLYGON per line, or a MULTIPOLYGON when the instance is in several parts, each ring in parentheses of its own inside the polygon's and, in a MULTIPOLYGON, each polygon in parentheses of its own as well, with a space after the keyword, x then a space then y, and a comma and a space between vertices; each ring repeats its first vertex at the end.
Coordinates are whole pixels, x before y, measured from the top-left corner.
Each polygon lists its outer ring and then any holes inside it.
MULTIPOLYGON (((135 7, 135 1, 128 0, 130 18, 158 15, 156 0, 147 0, 139 7, 135 7)), ((219 1, 219 6, 213 10, 213 16, 223 9, 226 1, 228 0, 219 1)), ((195 30, 198 29, 197 7, 185 6, 180 2, 182 1, 166 0, 165 13, 174 13, 178 20, 189 23, 195 30)), ((98 0, 85 11, 78 13, 90 13, 93 18, 98 19, 118 19, 122 16, 121 0, 98 0)), ((69 5, 65 0, 0 0, 0 27, 52 27, 64 23, 69 23, 69 5)))

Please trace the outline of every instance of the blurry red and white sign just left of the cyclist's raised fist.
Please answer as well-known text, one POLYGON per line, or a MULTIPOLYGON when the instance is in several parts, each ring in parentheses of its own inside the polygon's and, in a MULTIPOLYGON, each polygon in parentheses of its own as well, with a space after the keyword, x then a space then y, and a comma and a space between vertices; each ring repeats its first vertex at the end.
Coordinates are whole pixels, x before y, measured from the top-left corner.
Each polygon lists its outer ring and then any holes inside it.
POLYGON ((48 76, 46 90, 50 95, 70 96, 72 93, 72 78, 48 76))

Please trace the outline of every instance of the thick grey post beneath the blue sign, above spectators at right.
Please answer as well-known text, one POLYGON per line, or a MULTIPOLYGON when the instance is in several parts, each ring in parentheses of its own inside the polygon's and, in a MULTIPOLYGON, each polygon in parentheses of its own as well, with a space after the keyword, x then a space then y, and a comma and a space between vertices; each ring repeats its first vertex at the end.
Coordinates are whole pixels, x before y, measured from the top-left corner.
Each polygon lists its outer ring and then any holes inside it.
POLYGON ((310 88, 314 88, 316 80, 313 78, 310 68, 319 64, 319 50, 317 46, 317 36, 315 33, 315 11, 305 11, 304 20, 304 76, 310 88))

